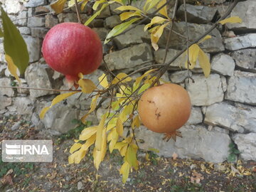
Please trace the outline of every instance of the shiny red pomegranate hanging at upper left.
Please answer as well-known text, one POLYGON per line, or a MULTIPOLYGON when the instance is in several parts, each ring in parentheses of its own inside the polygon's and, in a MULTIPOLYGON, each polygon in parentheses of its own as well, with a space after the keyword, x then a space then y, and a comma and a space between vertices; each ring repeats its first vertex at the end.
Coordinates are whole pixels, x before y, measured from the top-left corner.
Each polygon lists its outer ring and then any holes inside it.
POLYGON ((91 28, 80 23, 60 23, 43 40, 43 58, 50 68, 78 81, 78 73, 92 73, 102 62, 102 43, 91 28))

